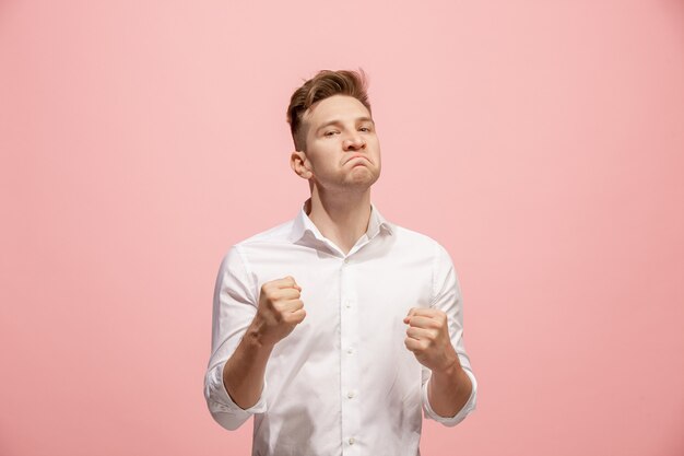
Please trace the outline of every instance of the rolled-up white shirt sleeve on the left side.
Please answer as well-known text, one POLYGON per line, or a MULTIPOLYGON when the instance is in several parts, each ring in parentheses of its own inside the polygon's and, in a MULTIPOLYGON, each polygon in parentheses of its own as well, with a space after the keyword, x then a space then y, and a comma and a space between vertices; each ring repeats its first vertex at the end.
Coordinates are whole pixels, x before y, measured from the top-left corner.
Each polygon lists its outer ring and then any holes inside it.
POLYGON ((248 409, 236 405, 223 384, 223 367, 233 355, 257 313, 253 280, 237 246, 233 246, 219 268, 212 313, 211 358, 204 374, 204 399, 213 419, 223 428, 235 430, 255 413, 267 409, 264 381, 257 404, 248 409))

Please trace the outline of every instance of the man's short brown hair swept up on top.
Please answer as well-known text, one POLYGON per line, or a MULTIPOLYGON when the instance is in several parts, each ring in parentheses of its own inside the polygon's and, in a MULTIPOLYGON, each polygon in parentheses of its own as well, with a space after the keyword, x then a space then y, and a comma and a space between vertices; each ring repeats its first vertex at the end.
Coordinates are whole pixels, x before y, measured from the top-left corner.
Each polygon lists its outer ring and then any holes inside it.
POLYGON ((297 150, 305 150, 306 138, 302 138, 302 118, 304 113, 317 102, 333 95, 349 95, 358 100, 370 113, 368 102, 367 79, 363 69, 321 70, 297 89, 290 98, 287 106, 287 122, 292 139, 297 150))

